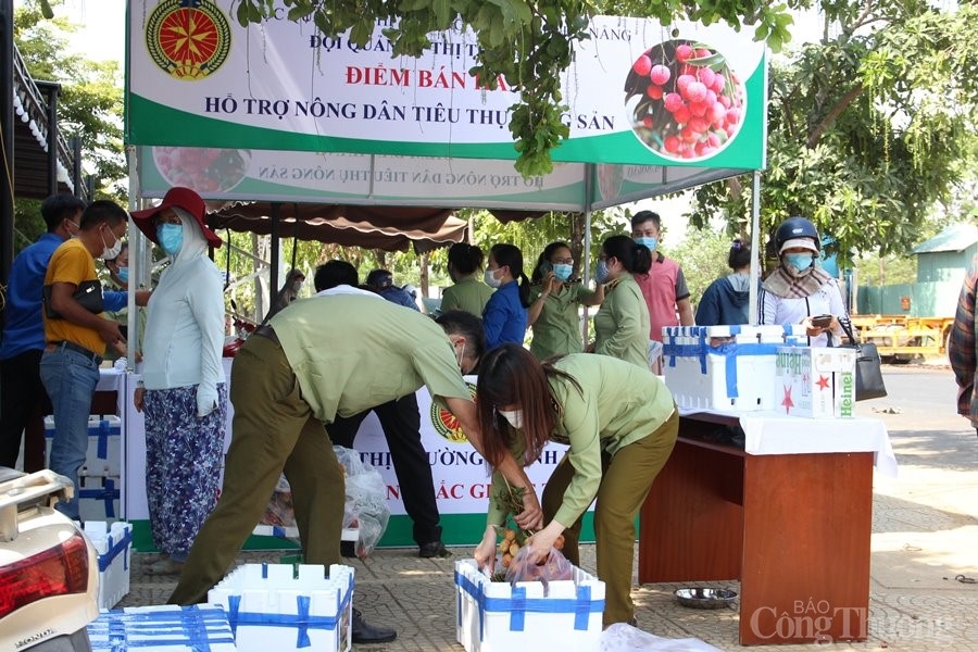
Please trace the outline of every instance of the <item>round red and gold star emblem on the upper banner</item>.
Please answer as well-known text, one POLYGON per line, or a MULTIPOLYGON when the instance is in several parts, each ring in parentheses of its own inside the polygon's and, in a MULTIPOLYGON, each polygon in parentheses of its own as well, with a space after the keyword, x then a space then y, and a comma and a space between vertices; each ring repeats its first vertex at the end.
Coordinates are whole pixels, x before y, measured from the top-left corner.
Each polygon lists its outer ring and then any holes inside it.
POLYGON ((230 26, 209 0, 164 0, 147 21, 146 47, 167 75, 193 82, 227 60, 230 26))

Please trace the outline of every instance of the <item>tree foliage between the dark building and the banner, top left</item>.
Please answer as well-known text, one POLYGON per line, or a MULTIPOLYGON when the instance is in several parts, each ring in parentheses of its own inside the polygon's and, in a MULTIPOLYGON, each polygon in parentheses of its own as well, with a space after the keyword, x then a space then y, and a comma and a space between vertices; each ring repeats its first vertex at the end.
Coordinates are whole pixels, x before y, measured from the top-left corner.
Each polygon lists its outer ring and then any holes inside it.
POLYGON ((70 53, 67 45, 77 29, 63 17, 42 18, 34 0, 14 13, 14 40, 32 77, 61 84, 59 126, 65 137, 82 138, 85 171, 99 184, 96 198, 124 202, 128 171, 123 155, 121 71, 117 62, 93 62, 70 53))

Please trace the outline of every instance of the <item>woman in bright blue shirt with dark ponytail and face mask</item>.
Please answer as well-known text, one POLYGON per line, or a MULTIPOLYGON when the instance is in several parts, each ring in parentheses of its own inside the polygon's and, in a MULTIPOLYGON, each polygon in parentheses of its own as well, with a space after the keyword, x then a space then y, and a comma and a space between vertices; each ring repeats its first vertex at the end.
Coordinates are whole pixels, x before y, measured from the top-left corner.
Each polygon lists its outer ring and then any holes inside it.
POLYGON ((482 310, 486 350, 512 342, 523 344, 529 308, 529 278, 523 273, 523 252, 515 244, 493 244, 486 265, 486 285, 496 288, 482 310))

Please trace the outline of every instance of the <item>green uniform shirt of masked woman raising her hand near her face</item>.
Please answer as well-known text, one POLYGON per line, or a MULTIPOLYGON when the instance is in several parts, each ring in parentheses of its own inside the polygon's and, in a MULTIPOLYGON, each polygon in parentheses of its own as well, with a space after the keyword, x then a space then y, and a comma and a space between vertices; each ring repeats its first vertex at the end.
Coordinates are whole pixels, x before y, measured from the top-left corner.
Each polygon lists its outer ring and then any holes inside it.
MULTIPOLYGON (((534 322, 530 353, 537 360, 584 351, 580 338, 580 305, 594 294, 579 283, 561 284, 556 293, 543 299, 540 316, 534 322)), ((542 293, 543 286, 530 288, 530 302, 542 293)))

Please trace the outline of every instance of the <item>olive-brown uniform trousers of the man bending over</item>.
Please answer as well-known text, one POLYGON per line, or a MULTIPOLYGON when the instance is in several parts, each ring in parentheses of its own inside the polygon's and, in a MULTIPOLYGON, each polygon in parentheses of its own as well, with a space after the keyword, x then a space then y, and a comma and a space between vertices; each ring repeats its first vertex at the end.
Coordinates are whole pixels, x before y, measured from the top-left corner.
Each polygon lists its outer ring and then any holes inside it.
POLYGON ((341 563, 342 468, 277 342, 248 338, 231 366, 230 400, 235 418, 224 488, 193 541, 171 604, 206 600, 264 515, 281 473, 292 490, 305 562, 341 563))

